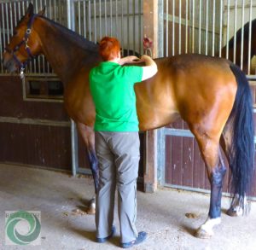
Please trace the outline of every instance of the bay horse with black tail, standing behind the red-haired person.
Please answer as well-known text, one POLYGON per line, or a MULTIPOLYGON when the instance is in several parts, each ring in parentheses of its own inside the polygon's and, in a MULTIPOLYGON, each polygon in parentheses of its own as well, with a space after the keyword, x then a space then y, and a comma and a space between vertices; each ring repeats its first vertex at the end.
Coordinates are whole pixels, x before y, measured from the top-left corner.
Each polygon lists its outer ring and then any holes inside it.
MULTIPOLYGON (((65 85, 64 104, 87 147, 95 188, 95 106, 88 74, 101 61, 96 44, 53 20, 44 10, 33 13, 32 3, 15 27, 3 55, 3 65, 15 72, 31 57, 44 54, 65 85)), ((181 117, 198 142, 211 183, 207 221, 195 235, 209 238, 221 221, 221 196, 226 172, 224 154, 232 174, 234 198, 230 215, 247 208, 253 182, 253 101, 247 78, 232 62, 206 55, 177 55, 155 59, 158 73, 137 83, 137 115, 141 131, 169 125, 181 117), (239 208, 239 209, 238 209, 239 208)))

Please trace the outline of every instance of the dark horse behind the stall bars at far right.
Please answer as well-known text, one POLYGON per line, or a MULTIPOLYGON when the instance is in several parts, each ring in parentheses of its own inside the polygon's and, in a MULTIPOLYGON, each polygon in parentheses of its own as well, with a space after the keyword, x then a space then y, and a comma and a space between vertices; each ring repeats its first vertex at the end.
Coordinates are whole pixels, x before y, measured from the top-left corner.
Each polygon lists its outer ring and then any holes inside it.
MULTIPOLYGON (((251 69, 248 68, 248 60, 252 60, 253 56, 256 55, 256 19, 252 20, 252 32, 251 32, 251 48, 249 48, 249 30, 250 23, 247 22, 243 26, 243 35, 242 28, 236 32, 236 58, 235 63, 238 66, 242 66, 242 71, 248 73, 251 69), (242 40, 243 38, 243 46, 242 40), (242 51, 242 60, 241 60, 241 51, 242 51), (250 51, 250 57, 249 57, 250 51)), ((226 50, 228 48, 228 58, 230 61, 234 61, 234 49, 235 49, 235 37, 231 38, 229 41, 229 47, 227 45, 221 50, 222 57, 226 57, 226 50)))

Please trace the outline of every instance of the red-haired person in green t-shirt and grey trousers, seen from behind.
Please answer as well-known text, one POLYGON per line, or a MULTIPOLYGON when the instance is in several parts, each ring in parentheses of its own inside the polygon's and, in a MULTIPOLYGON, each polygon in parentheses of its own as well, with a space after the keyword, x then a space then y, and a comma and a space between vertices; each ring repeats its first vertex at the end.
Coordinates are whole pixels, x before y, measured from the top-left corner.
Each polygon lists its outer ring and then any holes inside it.
POLYGON ((113 208, 118 190, 120 247, 143 242, 137 233, 137 176, 140 159, 138 119, 134 84, 157 73, 155 62, 143 55, 144 67, 123 66, 136 56, 120 56, 118 39, 105 37, 99 44, 102 62, 90 71, 90 92, 96 107, 94 125, 99 188, 96 193, 96 241, 110 239, 114 232, 113 208))

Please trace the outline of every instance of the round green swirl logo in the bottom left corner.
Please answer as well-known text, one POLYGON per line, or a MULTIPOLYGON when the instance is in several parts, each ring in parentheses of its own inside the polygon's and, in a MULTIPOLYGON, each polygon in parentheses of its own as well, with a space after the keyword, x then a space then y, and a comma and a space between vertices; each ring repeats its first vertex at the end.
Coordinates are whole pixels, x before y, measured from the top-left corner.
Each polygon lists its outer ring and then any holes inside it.
POLYGON ((38 217, 32 212, 18 211, 9 214, 9 218, 5 224, 5 232, 10 241, 17 245, 28 245, 35 241, 40 235, 41 224, 38 217), (20 229, 24 224, 28 224, 27 233, 20 233, 20 229))

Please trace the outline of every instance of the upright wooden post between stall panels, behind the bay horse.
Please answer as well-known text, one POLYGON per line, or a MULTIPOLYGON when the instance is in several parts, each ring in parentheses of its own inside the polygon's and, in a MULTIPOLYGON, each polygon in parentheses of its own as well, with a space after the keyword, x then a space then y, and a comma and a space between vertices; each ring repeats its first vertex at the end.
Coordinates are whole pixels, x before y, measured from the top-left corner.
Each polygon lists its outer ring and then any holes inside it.
MULTIPOLYGON (((143 2, 144 36, 153 41, 152 57, 157 57, 158 48, 158 0, 143 2)), ((157 189, 157 132, 147 131, 144 137, 144 192, 153 193, 157 189)))

